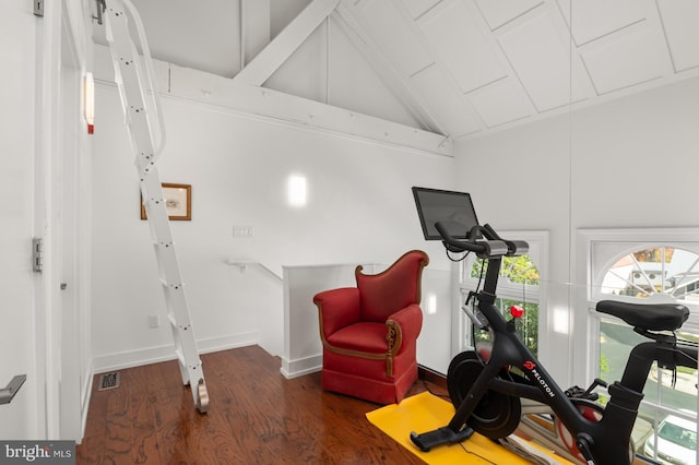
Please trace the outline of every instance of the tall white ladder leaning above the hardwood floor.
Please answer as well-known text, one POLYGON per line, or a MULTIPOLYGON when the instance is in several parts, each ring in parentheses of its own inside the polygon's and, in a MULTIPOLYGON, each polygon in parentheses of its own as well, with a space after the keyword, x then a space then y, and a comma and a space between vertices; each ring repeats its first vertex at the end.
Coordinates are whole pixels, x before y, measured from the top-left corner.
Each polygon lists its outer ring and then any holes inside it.
POLYGON ((135 153, 141 195, 151 227, 182 382, 190 385, 199 412, 205 413, 209 408, 209 394, 175 252, 165 196, 155 166, 165 145, 165 126, 153 79, 151 53, 141 17, 129 0, 107 0, 104 20, 126 124, 135 153), (142 56, 131 38, 129 19, 135 25, 142 56))

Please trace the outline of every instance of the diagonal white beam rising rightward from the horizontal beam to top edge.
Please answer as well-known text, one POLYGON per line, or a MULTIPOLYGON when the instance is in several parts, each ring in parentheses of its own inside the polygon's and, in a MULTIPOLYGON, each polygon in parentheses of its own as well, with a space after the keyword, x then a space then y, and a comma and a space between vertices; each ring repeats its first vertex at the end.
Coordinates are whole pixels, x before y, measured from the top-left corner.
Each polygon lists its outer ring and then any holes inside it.
POLYGON ((340 0, 313 0, 250 63, 233 78, 235 84, 262 85, 312 34, 340 0))

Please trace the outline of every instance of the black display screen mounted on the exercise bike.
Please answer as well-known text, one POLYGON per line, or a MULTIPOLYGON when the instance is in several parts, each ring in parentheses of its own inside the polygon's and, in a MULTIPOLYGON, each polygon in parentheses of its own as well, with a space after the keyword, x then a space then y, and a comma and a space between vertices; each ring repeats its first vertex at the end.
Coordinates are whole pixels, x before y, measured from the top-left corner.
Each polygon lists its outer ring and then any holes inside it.
POLYGON ((441 240, 435 223, 440 222, 455 239, 469 239, 469 233, 478 226, 478 218, 466 192, 413 188, 417 215, 426 240, 441 240))

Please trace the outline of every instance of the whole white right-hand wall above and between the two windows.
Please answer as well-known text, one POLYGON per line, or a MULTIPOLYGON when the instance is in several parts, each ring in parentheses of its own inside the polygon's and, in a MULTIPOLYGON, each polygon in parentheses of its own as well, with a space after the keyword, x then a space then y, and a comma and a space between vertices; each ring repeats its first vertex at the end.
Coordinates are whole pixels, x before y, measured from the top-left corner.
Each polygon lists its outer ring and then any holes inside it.
MULTIPOLYGON (((462 141, 457 184, 472 193, 479 220, 496 229, 550 230, 550 303, 567 308, 565 283, 584 284, 570 243, 577 229, 699 225, 698 127, 695 78, 462 141)), ((574 309, 571 324, 573 317, 574 309)), ((540 353, 566 379, 571 338, 553 333, 550 318, 540 353)))

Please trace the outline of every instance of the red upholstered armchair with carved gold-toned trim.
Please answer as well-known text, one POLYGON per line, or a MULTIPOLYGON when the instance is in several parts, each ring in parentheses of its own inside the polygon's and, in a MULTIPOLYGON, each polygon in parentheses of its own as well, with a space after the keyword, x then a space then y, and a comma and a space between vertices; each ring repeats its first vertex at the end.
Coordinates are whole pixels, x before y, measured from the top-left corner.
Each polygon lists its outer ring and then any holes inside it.
POLYGON ((427 254, 412 250, 375 275, 355 269, 357 287, 313 297, 323 343, 323 389, 378 404, 400 403, 417 380, 416 339, 427 254))

